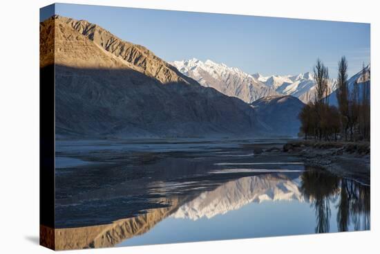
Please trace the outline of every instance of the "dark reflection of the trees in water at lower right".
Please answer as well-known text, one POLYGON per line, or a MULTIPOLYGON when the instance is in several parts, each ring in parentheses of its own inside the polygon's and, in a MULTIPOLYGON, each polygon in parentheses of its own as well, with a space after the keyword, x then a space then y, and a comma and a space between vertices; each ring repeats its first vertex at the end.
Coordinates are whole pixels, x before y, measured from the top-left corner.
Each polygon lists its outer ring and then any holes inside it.
POLYGON ((330 232, 330 203, 336 199, 339 199, 336 205, 339 231, 348 231, 350 222, 355 230, 370 229, 369 186, 307 167, 301 176, 301 191, 314 207, 316 233, 330 232))

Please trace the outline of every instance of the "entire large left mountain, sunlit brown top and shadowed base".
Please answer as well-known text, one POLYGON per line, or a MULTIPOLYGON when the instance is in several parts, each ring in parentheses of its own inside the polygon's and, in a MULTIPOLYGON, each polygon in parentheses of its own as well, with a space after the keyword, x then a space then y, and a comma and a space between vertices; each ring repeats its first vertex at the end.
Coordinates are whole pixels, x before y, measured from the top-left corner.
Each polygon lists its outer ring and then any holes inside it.
MULTIPOLYGON (((59 136, 252 136, 254 109, 202 87, 144 46, 88 21, 40 24, 41 74, 55 71, 59 136)), ((50 84, 43 84, 50 85, 50 84)))

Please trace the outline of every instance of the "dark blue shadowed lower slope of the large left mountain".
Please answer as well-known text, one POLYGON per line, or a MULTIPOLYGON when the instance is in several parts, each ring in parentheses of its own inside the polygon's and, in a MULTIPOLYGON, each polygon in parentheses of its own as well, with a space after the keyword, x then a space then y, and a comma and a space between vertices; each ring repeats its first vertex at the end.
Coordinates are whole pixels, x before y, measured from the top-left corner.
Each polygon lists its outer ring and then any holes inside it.
MULTIPOLYGON (((41 75, 51 69, 44 67, 41 75)), ((199 84, 162 84, 133 69, 55 65, 55 116, 58 135, 197 137, 259 132, 254 111, 245 102, 199 84)))

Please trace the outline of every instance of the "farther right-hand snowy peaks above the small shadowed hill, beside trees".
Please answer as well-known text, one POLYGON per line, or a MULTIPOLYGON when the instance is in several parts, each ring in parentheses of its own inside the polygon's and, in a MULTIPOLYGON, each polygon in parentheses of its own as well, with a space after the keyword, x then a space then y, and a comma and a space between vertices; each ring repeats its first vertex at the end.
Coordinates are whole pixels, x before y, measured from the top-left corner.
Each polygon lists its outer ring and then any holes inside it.
MULTIPOLYGON (((255 73, 252 76, 283 95, 294 96, 304 103, 314 100, 316 82, 314 75, 310 72, 299 75, 272 75, 269 77, 255 73)), ((336 80, 332 80, 329 82, 330 93, 335 89, 336 80)))

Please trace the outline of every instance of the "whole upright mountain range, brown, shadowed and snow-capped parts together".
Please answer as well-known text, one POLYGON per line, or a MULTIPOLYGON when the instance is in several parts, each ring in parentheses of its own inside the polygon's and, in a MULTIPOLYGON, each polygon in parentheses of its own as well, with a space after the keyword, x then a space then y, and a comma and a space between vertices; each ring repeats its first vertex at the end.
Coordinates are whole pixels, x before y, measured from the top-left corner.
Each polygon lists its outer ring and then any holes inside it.
POLYGON ((294 136, 315 84, 311 73, 263 77, 211 60, 165 62, 58 15, 40 23, 40 69, 54 73, 57 138, 294 136))

